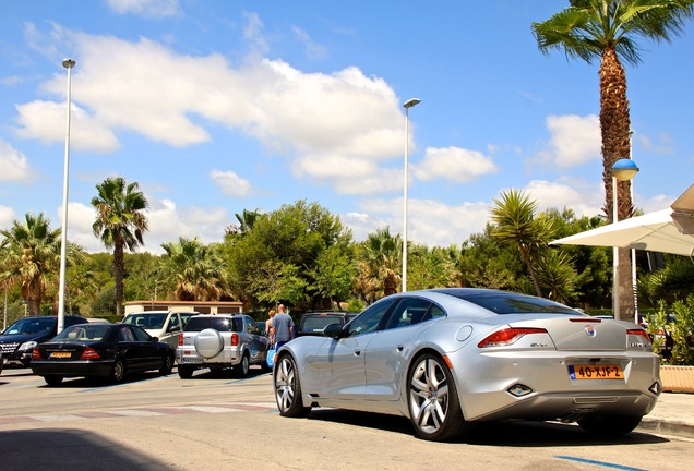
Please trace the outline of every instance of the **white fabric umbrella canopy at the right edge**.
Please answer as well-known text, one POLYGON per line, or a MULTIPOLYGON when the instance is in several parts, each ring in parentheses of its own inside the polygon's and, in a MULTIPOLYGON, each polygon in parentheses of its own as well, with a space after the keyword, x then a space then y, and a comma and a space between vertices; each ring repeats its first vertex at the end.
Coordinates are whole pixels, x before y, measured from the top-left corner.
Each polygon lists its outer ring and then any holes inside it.
POLYGON ((551 243, 619 246, 694 256, 694 185, 668 209, 601 226, 551 243))

